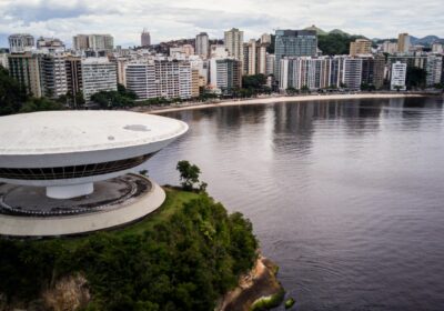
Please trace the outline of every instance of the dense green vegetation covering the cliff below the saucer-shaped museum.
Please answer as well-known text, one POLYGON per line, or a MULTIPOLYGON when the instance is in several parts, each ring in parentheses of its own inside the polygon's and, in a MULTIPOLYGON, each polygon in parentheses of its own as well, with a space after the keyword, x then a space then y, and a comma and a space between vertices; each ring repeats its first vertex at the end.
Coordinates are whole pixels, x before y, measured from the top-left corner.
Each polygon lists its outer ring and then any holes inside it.
POLYGON ((213 310, 253 265, 252 225, 204 192, 167 192, 159 212, 122 230, 0 240, 0 293, 9 303, 30 301, 81 273, 92 295, 88 310, 213 310))

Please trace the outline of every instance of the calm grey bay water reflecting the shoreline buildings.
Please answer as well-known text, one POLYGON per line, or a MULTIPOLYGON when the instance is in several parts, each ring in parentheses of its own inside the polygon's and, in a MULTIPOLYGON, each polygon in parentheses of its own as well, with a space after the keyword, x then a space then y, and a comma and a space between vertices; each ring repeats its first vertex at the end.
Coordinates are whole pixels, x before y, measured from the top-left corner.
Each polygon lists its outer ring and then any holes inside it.
POLYGON ((444 310, 442 99, 183 111, 190 132, 149 161, 254 224, 297 310, 444 310))

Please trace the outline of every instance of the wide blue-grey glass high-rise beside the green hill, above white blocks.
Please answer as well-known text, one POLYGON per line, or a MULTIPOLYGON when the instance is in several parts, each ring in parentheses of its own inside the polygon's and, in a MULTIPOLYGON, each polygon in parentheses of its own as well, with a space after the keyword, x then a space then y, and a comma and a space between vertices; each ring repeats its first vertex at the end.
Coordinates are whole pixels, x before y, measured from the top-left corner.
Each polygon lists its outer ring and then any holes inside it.
POLYGON ((314 30, 276 30, 274 42, 275 78, 280 77, 280 63, 284 57, 314 57, 317 37, 314 30))

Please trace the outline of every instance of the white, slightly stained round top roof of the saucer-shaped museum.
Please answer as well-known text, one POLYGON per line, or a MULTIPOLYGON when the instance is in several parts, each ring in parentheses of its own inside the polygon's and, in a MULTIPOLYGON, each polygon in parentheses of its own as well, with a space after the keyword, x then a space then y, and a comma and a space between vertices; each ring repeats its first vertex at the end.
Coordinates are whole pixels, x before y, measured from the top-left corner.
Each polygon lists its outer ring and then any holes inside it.
POLYGON ((128 111, 49 111, 0 118, 0 157, 98 151, 149 144, 186 123, 128 111))

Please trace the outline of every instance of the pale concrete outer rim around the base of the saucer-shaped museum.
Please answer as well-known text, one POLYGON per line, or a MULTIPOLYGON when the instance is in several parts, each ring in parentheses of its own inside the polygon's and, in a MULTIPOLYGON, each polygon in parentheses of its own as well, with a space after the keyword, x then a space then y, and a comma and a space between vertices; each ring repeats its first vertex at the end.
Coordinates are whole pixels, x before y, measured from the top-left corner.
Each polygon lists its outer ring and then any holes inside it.
POLYGON ((137 221, 155 211, 167 198, 159 184, 149 181, 151 183, 149 190, 111 210, 47 218, 0 214, 0 235, 14 238, 70 235, 115 228, 137 221))

